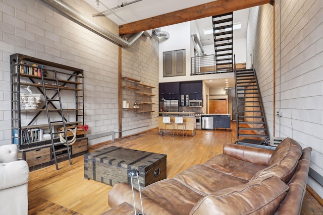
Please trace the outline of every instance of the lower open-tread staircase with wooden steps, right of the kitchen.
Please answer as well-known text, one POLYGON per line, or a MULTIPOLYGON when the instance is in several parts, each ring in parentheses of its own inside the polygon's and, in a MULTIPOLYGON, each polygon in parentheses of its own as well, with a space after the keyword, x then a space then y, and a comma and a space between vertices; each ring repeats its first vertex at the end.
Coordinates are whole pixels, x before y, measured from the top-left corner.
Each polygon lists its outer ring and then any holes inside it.
POLYGON ((237 141, 268 137, 261 95, 254 69, 235 70, 237 141))

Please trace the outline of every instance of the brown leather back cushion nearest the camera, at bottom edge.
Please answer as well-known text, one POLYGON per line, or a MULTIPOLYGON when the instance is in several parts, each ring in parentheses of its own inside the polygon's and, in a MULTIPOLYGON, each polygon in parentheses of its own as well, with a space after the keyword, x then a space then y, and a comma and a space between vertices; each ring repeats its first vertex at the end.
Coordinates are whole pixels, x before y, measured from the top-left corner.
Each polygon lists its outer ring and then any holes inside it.
POLYGON ((274 214, 287 190, 275 176, 259 178, 203 197, 189 214, 274 214))

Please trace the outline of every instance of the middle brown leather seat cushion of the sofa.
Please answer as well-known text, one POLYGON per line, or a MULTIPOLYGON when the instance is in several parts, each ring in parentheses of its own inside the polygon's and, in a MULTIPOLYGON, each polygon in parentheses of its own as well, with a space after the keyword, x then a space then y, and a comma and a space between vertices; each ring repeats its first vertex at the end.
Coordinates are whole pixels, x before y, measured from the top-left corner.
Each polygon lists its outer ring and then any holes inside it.
POLYGON ((249 181, 219 172, 201 164, 184 170, 174 178, 203 196, 224 188, 245 184, 249 181))

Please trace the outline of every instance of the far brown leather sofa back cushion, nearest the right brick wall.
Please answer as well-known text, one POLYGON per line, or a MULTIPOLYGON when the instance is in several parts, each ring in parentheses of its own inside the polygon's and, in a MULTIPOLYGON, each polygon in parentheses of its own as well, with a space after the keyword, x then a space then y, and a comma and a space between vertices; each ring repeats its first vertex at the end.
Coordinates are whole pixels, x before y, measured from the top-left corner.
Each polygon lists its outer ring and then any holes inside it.
POLYGON ((291 138, 285 138, 276 148, 265 169, 259 170, 250 180, 275 175, 287 183, 295 172, 302 147, 291 138))

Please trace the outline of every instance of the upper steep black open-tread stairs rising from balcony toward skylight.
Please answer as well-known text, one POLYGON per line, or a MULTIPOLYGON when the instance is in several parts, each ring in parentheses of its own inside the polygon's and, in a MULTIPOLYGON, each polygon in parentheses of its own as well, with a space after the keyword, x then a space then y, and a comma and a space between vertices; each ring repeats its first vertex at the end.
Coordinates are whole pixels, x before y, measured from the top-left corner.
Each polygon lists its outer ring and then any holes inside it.
POLYGON ((212 17, 218 73, 233 70, 233 12, 212 17))

